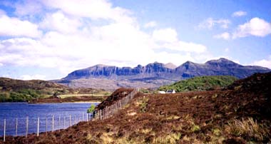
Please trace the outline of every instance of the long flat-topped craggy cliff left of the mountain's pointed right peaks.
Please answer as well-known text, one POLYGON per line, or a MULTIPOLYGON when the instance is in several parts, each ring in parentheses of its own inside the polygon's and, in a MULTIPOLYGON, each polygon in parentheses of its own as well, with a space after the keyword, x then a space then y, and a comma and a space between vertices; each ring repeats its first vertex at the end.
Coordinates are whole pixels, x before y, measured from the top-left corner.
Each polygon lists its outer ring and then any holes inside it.
POLYGON ((167 68, 163 63, 150 63, 147 66, 138 65, 135 68, 96 65, 89 68, 73 71, 64 80, 79 78, 108 78, 108 79, 136 79, 150 77, 170 77, 168 73, 174 73, 175 69, 167 68))

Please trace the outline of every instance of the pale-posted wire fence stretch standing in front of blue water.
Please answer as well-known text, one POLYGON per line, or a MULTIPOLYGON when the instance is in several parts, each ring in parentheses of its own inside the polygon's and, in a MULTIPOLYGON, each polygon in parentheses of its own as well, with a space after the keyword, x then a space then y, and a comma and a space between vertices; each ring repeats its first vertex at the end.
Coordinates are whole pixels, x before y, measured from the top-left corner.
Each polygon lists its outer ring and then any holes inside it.
POLYGON ((75 115, 48 115, 45 118, 41 117, 26 117, 26 118, 4 118, 0 120, 0 137, 3 136, 3 141, 6 141, 6 135, 27 135, 29 133, 39 133, 55 131, 68 128, 73 123, 76 125, 81 121, 89 121, 93 119, 91 113, 78 113, 75 115), (70 125, 66 125, 69 120, 70 125))

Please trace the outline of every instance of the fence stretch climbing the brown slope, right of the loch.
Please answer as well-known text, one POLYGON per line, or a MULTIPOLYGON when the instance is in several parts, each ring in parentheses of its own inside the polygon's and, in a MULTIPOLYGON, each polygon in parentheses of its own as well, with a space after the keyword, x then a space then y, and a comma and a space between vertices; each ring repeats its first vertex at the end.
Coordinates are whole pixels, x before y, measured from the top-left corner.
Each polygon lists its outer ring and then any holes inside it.
POLYGON ((123 106, 125 106, 134 96, 138 93, 139 89, 135 88, 131 93, 128 93, 126 97, 121 98, 121 100, 116 101, 111 106, 106 106, 106 108, 93 111, 93 120, 103 120, 109 118, 114 113, 118 112, 123 106))

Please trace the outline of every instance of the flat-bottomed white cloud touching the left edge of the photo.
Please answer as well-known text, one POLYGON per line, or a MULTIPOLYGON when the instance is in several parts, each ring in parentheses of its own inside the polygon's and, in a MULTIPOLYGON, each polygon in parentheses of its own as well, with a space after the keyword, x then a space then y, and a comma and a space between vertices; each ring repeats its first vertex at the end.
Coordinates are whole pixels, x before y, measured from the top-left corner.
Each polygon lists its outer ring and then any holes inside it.
POLYGON ((6 15, 0 15, 0 36, 27 36, 39 37, 39 31, 36 24, 29 21, 21 21, 17 18, 10 18, 6 15))

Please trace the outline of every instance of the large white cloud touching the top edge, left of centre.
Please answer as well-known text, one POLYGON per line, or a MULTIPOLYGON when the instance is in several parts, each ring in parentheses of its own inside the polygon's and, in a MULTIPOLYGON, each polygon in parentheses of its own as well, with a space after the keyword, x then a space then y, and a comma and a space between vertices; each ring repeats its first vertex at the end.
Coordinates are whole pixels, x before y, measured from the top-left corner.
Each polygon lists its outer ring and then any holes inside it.
POLYGON ((118 22, 133 23, 129 16, 131 11, 121 7, 113 7, 106 0, 41 0, 43 4, 54 9, 61 9, 66 14, 91 19, 111 19, 118 22))

